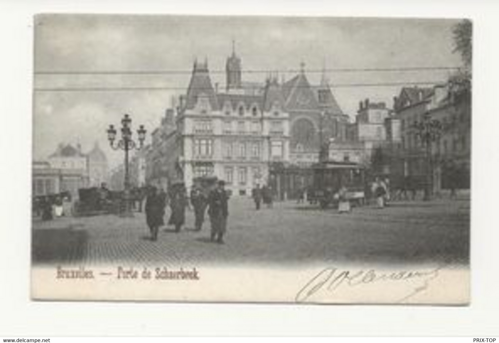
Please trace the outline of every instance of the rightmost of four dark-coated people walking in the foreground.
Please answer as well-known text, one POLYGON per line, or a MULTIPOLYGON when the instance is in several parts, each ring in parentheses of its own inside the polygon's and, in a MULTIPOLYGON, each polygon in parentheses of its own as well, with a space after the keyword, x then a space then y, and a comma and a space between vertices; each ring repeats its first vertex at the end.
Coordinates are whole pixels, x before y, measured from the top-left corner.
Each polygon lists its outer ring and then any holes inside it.
POLYGON ((227 218, 229 217, 229 197, 225 191, 225 182, 220 180, 208 197, 208 214, 211 222, 212 242, 217 241, 219 244, 224 243, 224 234, 227 230, 227 218))

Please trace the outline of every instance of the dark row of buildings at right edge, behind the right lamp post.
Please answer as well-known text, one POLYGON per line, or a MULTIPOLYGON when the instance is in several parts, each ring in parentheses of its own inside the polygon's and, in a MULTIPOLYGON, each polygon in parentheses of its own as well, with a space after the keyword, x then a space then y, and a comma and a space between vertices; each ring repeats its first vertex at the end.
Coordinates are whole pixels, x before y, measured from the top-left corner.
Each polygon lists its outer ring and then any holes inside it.
POLYGON ((431 182, 433 193, 442 189, 469 189, 470 81, 451 76, 445 84, 432 88, 403 88, 394 98, 394 109, 400 126, 399 148, 392 162, 396 174, 419 179, 423 184, 431 182), (430 141, 429 151, 415 129, 425 118, 440 126, 430 141))

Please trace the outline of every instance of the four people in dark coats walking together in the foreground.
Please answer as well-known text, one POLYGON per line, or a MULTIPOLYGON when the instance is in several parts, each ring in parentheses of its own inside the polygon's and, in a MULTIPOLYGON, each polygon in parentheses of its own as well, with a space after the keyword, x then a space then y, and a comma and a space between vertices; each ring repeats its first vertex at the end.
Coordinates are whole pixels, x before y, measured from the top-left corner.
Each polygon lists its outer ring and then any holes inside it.
MULTIPOLYGON (((216 187, 211 190, 203 189, 201 185, 195 184, 190 194, 191 205, 194 208, 195 231, 201 231, 205 221, 205 213, 211 223, 210 241, 224 243, 224 234, 227 230, 227 218, 229 217, 229 196, 225 191, 225 182, 218 181, 216 187)), ((156 187, 151 187, 146 198, 145 212, 147 225, 151 232, 151 239, 158 239, 158 231, 164 225, 163 217, 165 208, 169 203, 171 214, 168 225, 175 227, 175 232, 180 232, 185 224, 185 211, 189 206, 187 190, 183 183, 174 184, 169 188, 168 195, 156 187)))

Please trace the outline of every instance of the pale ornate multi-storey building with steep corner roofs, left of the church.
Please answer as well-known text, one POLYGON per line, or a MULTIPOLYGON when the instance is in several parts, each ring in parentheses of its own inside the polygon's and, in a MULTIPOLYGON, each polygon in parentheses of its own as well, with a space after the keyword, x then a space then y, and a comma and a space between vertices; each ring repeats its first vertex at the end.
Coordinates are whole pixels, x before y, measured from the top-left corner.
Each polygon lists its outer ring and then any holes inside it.
POLYGON ((171 137, 180 147, 188 187, 195 177, 217 176, 233 194, 250 195, 256 184, 269 182, 271 163, 289 161, 289 115, 280 85, 268 79, 261 95, 247 94, 240 91, 238 75, 228 73, 230 86, 217 93, 207 61, 194 64, 176 119, 177 136, 171 137))

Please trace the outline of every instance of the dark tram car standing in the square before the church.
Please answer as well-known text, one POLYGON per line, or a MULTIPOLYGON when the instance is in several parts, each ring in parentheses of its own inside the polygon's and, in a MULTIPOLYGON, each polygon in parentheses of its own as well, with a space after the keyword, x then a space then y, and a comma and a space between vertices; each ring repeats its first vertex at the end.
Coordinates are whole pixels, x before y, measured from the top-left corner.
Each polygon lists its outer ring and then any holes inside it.
POLYGON ((351 162, 320 162, 312 166, 313 182, 308 195, 310 203, 317 203, 321 208, 337 206, 339 191, 346 189, 346 199, 360 206, 365 202, 365 168, 351 162))

